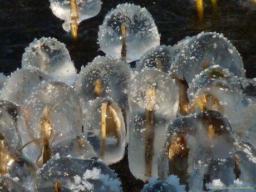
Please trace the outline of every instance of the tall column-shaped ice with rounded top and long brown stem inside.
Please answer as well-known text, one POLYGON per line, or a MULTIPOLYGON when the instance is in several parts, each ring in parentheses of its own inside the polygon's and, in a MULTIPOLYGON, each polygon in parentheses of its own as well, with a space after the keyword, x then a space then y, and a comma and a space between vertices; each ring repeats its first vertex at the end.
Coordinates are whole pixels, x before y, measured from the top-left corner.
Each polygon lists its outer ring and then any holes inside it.
POLYGON ((178 110, 178 86, 166 73, 145 70, 131 80, 128 91, 130 130, 129 168, 146 181, 157 175, 157 160, 164 146, 165 125, 178 110))

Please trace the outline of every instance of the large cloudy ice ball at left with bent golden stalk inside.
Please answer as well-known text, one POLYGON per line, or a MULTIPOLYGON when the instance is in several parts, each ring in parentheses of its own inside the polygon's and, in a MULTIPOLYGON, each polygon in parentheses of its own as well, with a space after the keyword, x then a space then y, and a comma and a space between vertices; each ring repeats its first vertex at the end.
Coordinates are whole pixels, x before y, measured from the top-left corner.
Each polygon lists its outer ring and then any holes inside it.
POLYGON ((33 161, 41 162, 46 142, 51 151, 56 142, 74 139, 82 133, 80 98, 66 83, 42 83, 33 90, 22 109, 23 119, 19 121, 22 142, 33 141, 22 152, 33 161))

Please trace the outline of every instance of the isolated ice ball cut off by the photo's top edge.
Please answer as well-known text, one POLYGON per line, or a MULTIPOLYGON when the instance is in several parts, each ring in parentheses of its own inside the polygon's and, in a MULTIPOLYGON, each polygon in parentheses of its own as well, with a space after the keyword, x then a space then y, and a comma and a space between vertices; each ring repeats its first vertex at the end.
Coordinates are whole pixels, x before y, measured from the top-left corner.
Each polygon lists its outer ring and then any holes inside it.
MULTIPOLYGON (((101 0, 77 0, 76 4, 78 11, 77 24, 79 24, 81 21, 99 14, 102 2, 101 0)), ((56 17, 65 20, 65 27, 63 29, 67 32, 70 31, 70 28, 67 28, 67 25, 70 26, 70 23, 72 23, 70 1, 50 0, 50 8, 56 17)))

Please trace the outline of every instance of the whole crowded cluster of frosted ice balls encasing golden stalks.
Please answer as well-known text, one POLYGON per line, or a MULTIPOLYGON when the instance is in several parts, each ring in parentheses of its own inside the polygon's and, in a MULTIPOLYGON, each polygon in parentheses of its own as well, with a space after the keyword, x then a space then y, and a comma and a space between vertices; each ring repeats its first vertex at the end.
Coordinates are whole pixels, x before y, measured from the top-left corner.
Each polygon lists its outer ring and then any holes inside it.
POLYGON ((63 43, 32 42, 22 68, 0 76, 1 188, 122 191, 105 164, 120 161, 127 142, 131 173, 149 180, 142 191, 256 187, 256 83, 245 78, 239 53, 218 33, 174 46, 159 40, 146 9, 126 3, 100 26, 99 45, 112 57, 95 58, 78 75, 63 43), (121 25, 127 62, 140 58, 135 72, 119 58, 121 25))

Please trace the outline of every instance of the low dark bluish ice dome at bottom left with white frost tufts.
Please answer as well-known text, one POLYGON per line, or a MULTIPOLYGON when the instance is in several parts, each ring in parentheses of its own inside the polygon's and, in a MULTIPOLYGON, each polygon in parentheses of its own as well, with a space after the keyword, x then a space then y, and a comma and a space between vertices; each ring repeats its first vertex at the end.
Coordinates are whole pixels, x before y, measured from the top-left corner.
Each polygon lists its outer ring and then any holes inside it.
POLYGON ((117 175, 105 164, 93 159, 79 160, 68 157, 51 159, 37 174, 38 192, 55 191, 55 182, 61 191, 121 192, 117 175))

